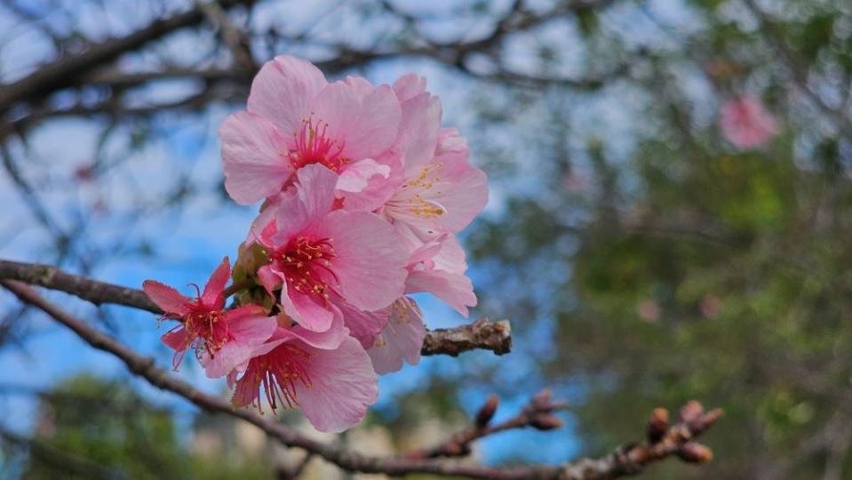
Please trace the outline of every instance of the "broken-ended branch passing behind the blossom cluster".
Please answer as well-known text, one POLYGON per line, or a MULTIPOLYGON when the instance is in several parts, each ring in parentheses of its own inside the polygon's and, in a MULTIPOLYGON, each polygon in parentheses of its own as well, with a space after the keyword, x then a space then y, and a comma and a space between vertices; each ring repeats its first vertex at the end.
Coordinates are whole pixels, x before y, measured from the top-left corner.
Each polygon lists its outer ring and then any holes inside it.
MULTIPOLYGON (((71 275, 50 265, 0 260, 0 278, 70 293, 95 305, 111 303, 155 314, 163 313, 141 290, 71 275)), ((511 348, 512 329, 508 320, 489 322, 480 319, 473 324, 426 332, 421 354, 458 356, 467 351, 484 349, 504 355, 511 348)))

